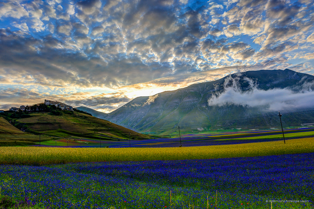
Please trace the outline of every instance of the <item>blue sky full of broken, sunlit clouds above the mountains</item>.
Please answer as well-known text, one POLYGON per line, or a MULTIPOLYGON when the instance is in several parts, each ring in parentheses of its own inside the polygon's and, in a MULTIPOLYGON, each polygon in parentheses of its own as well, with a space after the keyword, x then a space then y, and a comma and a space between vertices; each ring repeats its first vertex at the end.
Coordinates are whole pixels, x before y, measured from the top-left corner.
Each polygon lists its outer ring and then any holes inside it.
POLYGON ((314 0, 0 0, 0 109, 111 112, 235 72, 314 75, 314 0))

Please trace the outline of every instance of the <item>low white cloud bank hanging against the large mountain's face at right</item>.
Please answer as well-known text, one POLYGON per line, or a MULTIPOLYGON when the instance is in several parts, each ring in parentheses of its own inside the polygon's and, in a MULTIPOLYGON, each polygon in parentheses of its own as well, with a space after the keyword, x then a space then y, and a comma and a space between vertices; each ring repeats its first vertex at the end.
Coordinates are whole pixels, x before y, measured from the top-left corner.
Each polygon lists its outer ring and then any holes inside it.
POLYGON ((309 108, 314 106, 314 85, 307 83, 298 92, 289 88, 259 89, 254 81, 244 78, 249 84, 248 89, 242 90, 239 78, 225 80, 224 91, 208 99, 208 105, 241 105, 244 107, 257 107, 265 111, 289 110, 309 108), (230 85, 230 83, 232 83, 230 85))

